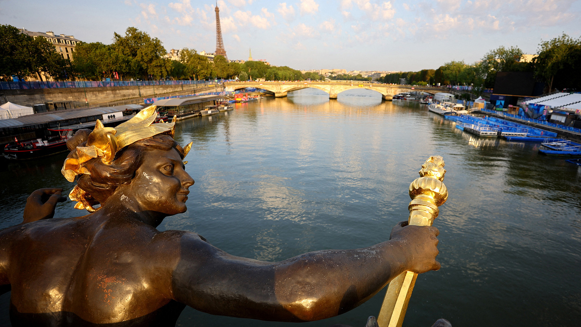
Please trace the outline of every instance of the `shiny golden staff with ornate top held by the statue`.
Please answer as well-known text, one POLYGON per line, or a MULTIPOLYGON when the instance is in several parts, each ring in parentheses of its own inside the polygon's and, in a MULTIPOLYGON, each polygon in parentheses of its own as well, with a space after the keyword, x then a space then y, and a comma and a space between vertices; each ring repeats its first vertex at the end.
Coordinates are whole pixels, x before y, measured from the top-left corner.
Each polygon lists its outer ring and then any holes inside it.
MULTIPOLYGON (((442 183, 446 173, 443 167, 442 157, 429 157, 419 170, 420 177, 411 182, 409 225, 432 226, 439 213, 437 207, 448 198, 448 190, 442 183)), ((379 327, 401 327, 417 277, 417 273, 406 271, 392 279, 377 317, 379 327)))

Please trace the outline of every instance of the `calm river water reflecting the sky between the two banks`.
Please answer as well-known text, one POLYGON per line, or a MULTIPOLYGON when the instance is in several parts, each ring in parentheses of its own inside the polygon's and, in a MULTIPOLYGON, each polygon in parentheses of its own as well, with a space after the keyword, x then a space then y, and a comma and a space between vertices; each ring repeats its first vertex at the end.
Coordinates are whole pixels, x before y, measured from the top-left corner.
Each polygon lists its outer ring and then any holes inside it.
MULTIPOLYGON (((474 137, 417 102, 314 89, 236 104, 178 123, 193 141, 188 211, 159 229, 197 232, 228 253, 279 261, 307 251, 387 240, 407 219, 408 185, 430 155, 446 161, 440 271, 418 276, 404 326, 578 326, 581 321, 581 169, 538 154, 539 144, 474 137)), ((0 228, 21 221, 28 194, 73 184, 66 155, 2 163, 0 228)), ((78 216, 71 202, 56 216, 78 216)), ((26 272, 23 272, 26 273, 26 272)), ((385 291, 339 317, 301 326, 363 327, 385 291)), ((0 324, 9 325, 9 294, 0 324)), ((291 326, 191 308, 179 326, 291 326)))

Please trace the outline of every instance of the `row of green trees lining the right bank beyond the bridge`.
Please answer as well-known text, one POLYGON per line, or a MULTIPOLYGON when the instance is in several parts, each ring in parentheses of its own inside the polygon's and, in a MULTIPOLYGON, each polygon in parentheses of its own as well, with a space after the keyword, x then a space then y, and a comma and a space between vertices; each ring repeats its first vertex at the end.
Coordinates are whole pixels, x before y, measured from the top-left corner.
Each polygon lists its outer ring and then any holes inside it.
POLYGON ((383 83, 400 83, 406 79, 413 85, 465 85, 493 88, 498 72, 532 72, 537 81, 545 83, 546 91, 564 88, 581 90, 581 37, 567 34, 541 41, 537 56, 521 62, 523 52, 518 47, 498 47, 487 52, 480 61, 465 63, 450 61, 438 69, 387 74, 383 83))

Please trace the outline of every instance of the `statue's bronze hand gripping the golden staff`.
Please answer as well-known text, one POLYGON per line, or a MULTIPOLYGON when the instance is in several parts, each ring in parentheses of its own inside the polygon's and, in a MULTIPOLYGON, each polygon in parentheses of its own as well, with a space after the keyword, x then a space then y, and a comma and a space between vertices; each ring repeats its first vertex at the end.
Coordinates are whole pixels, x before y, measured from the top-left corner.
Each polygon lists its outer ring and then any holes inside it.
POLYGON ((422 273, 440 269, 440 262, 436 260, 439 234, 433 226, 414 226, 403 221, 394 226, 389 239, 401 242, 408 271, 422 273))

